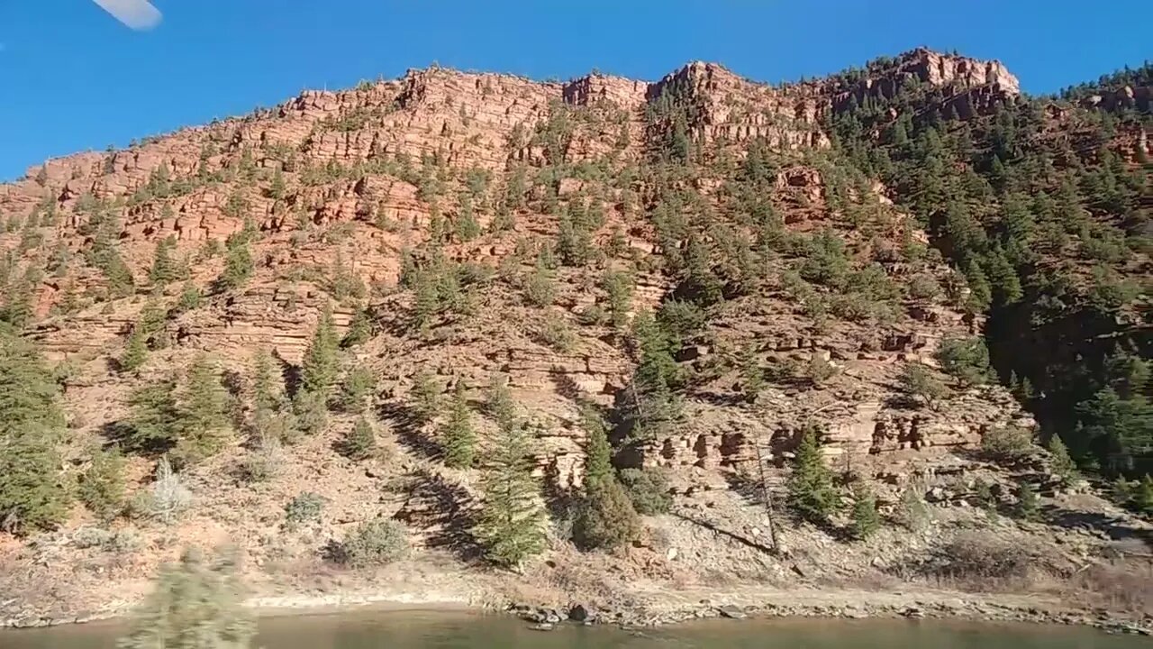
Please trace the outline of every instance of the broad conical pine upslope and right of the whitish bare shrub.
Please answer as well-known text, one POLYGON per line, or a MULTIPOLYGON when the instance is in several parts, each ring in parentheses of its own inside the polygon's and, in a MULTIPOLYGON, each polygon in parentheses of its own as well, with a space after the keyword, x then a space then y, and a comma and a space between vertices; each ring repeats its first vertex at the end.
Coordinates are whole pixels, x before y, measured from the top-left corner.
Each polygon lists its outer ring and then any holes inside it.
POLYGON ((228 405, 220 374, 208 356, 196 357, 188 368, 180 404, 176 452, 182 461, 196 462, 224 447, 229 433, 228 405))

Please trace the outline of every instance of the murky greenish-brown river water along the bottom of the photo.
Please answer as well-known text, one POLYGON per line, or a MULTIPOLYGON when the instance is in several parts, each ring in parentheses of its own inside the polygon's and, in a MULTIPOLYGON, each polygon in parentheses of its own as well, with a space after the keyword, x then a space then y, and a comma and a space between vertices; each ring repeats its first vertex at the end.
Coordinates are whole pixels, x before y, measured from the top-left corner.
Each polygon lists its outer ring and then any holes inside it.
MULTIPOLYGON (((122 632, 97 622, 0 631, 0 649, 112 649, 122 632)), ((1079 627, 910 620, 702 620, 638 632, 465 612, 389 611, 261 619, 264 649, 1151 649, 1147 637, 1079 627)))

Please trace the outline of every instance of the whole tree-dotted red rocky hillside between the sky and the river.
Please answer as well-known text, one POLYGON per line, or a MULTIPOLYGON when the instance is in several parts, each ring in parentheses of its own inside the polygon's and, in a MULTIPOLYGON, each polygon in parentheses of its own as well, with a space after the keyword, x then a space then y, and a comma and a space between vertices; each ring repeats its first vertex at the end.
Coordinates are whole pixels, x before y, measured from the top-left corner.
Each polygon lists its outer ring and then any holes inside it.
POLYGON ((1098 588, 1148 525, 1032 442, 1148 470, 1143 80, 1027 98, 926 50, 781 87, 432 68, 37 165, 0 186, 0 611, 113 610, 220 543, 264 590, 348 590, 376 520, 409 589, 963 588, 941 561, 974 528, 1030 553, 998 587, 1098 588), (517 579, 474 532, 493 394, 548 505, 517 579), (611 557, 573 536, 598 422, 643 515, 611 557), (844 502, 815 523, 786 506, 806 439, 844 502))

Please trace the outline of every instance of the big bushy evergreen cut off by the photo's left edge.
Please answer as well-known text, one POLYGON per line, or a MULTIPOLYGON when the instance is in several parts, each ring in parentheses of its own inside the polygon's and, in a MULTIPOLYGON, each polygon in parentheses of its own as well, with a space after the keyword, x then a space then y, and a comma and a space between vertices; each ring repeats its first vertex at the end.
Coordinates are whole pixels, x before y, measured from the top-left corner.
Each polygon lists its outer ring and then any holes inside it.
POLYGON ((63 520, 68 492, 55 445, 63 435, 52 373, 32 344, 0 328, 0 531, 63 520))

